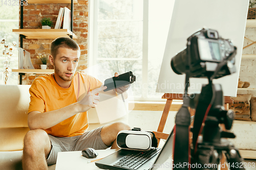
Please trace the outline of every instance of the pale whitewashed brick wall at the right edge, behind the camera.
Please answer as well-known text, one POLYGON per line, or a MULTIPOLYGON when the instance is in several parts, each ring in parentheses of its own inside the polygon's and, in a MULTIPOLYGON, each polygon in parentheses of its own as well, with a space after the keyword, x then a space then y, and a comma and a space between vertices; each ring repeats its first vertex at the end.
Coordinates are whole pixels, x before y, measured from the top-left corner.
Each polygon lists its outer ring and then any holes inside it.
MULTIPOLYGON (((246 28, 245 37, 256 41, 256 29, 246 28)), ((248 40, 244 40, 244 46, 250 44, 248 40)), ((244 48, 243 54, 256 54, 256 44, 244 48)), ((256 59, 242 59, 239 78, 241 81, 247 81, 250 83, 249 88, 256 88, 256 59)), ((239 90, 238 94, 252 94, 256 97, 255 90, 239 90)))

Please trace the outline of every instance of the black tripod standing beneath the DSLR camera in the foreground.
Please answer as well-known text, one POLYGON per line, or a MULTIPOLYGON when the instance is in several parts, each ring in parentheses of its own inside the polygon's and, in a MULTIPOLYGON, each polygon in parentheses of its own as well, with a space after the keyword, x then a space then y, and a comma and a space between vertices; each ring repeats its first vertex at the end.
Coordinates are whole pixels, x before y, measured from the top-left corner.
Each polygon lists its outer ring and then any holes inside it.
MULTIPOLYGON (((224 110, 221 85, 212 84, 209 79, 209 84, 202 87, 197 108, 194 128, 191 129, 193 132, 191 164, 200 164, 202 169, 217 169, 217 165, 222 158, 222 152, 224 152, 230 169, 245 169, 238 149, 230 141, 224 139, 234 138, 235 135, 224 132, 219 127, 219 124, 224 124, 225 128, 230 130, 234 115, 232 110, 224 110), (197 137, 200 133, 203 119, 205 119, 203 135, 197 137)), ((224 163, 221 166, 226 165, 224 163)))

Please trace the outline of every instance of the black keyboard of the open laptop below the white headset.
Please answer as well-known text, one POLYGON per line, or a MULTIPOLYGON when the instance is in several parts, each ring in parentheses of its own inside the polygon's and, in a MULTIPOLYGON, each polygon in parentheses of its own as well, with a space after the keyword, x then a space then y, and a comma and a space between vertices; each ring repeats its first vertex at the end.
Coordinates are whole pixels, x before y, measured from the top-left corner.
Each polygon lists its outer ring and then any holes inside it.
POLYGON ((161 148, 153 148, 148 152, 134 151, 133 154, 124 156, 114 166, 124 167, 127 169, 138 169, 140 166, 145 164, 148 160, 153 158, 160 152, 161 148))

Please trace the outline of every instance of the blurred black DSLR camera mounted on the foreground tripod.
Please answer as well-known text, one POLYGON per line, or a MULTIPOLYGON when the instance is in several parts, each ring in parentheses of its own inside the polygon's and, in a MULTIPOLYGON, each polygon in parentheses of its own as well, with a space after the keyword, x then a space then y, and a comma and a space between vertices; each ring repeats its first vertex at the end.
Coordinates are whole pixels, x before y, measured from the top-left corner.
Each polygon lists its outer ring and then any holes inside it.
POLYGON ((236 54, 237 48, 230 40, 219 37, 215 30, 202 29, 187 39, 187 47, 172 58, 170 65, 178 75, 185 74, 188 66, 189 77, 202 78, 214 74, 218 65, 227 61, 215 75, 218 79, 236 72, 236 54))

